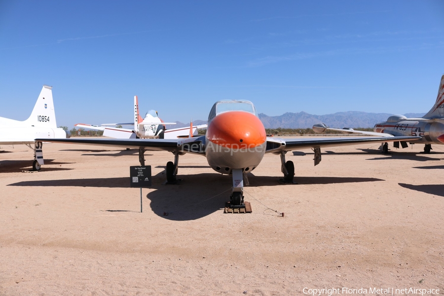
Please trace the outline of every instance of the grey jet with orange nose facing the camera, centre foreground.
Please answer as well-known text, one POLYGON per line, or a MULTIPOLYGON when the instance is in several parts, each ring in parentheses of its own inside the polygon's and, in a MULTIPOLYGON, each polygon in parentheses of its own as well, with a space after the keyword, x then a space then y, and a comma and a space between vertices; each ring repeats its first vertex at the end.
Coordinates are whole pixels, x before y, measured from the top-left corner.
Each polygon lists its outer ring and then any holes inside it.
POLYGON ((164 150, 174 154, 174 162, 166 165, 168 183, 176 182, 179 156, 185 153, 200 154, 218 173, 232 174, 231 205, 242 205, 244 179, 262 160, 265 153, 280 155, 283 181, 293 182, 295 167, 292 161, 285 161, 285 153, 290 150, 312 148, 315 152, 314 164, 321 161, 321 148, 355 145, 369 142, 412 141, 419 137, 357 137, 357 138, 316 138, 278 139, 269 138, 250 101, 218 101, 208 116, 205 136, 186 139, 54 139, 52 142, 69 144, 89 144, 122 148, 139 148, 139 161, 145 165, 145 150, 164 150))

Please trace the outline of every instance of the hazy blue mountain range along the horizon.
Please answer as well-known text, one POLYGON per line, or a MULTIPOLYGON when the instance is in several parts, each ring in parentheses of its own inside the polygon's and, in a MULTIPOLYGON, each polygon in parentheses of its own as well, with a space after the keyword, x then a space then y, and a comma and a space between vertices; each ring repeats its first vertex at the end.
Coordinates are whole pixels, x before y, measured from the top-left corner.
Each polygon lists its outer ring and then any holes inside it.
MULTIPOLYGON (((425 113, 406 113, 406 117, 422 117, 425 113)), ((369 128, 376 123, 385 121, 390 113, 369 113, 361 111, 337 112, 326 115, 314 115, 307 112, 292 113, 287 112, 279 116, 268 116, 264 113, 259 114, 259 118, 265 128, 311 128, 313 124, 325 123, 329 127, 343 128, 369 128)), ((189 126, 189 123, 176 121, 174 127, 189 126)), ((193 125, 206 124, 205 120, 195 120, 193 125)), ((170 126, 173 128, 173 126, 170 126)))

